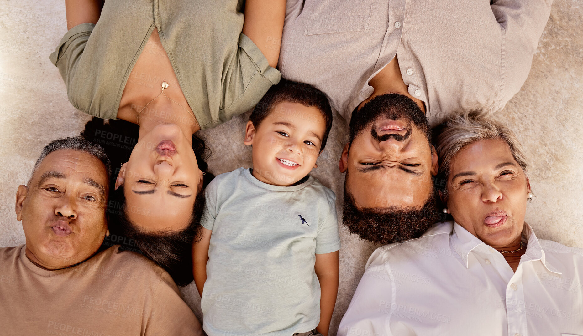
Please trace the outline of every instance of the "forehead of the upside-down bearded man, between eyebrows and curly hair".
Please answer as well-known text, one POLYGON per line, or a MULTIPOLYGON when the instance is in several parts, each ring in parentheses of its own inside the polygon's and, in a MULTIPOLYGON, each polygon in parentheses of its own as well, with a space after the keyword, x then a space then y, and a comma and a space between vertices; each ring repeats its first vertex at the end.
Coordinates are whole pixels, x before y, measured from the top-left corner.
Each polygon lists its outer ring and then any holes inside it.
POLYGON ((422 208, 433 192, 431 174, 421 176, 377 171, 374 174, 348 168, 345 192, 352 195, 357 208, 422 208))

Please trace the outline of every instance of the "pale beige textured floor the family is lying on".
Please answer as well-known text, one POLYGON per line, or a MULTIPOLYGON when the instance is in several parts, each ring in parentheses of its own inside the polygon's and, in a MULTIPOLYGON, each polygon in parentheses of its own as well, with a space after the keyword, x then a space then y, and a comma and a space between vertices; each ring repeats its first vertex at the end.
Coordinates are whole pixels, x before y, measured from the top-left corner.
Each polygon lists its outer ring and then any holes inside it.
MULTIPOLYGON (((15 194, 26 183, 41 147, 78 135, 89 116, 69 104, 65 86, 48 60, 66 31, 64 1, 0 0, 0 246, 24 243, 16 221, 15 194)), ((583 8, 580 0, 556 0, 522 90, 494 117, 507 123, 524 144, 536 198, 526 221, 539 238, 583 246, 583 8)), ((249 167, 243 145, 247 115, 204 132, 213 150, 215 174, 249 167)), ((328 146, 312 175, 337 195, 343 176, 338 158, 347 139, 336 118, 328 146)), ((338 202, 340 211, 340 202, 338 202)), ((340 213, 340 212, 339 212, 340 213)), ((374 247, 340 227, 340 291, 331 335, 345 312, 374 247)), ((195 312, 194 285, 182 292, 195 312)))

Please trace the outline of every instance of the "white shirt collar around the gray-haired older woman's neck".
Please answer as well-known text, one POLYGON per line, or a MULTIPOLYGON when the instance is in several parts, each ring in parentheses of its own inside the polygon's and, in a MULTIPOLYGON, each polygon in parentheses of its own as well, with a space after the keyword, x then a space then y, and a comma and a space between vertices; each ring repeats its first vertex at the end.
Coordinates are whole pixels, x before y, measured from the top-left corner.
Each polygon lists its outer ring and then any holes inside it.
MULTIPOLYGON (((538 238, 536 238, 531 225, 526 222, 524 223, 524 227, 522 227, 522 240, 526 240, 527 243, 526 251, 524 256, 522 256, 524 261, 540 260, 547 270, 552 273, 561 274, 549 263, 549 261, 546 260, 545 251, 542 246, 540 246, 540 242, 538 238)), ((454 228, 449 241, 451 242, 451 246, 454 247, 455 251, 461 257, 461 261, 466 268, 469 268, 469 253, 477 246, 482 244, 486 245, 486 243, 482 242, 482 240, 478 239, 475 235, 470 234, 468 230, 456 222, 454 222, 454 228)))

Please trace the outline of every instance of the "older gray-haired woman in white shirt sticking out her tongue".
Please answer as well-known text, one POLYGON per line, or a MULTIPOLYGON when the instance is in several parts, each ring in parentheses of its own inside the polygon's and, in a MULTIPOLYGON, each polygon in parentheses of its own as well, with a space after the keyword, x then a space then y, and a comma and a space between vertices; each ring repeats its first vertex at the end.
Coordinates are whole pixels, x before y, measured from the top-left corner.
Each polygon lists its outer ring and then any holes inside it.
POLYGON ((375 250, 338 335, 583 335, 583 251, 524 222, 533 194, 515 134, 466 113, 437 151, 454 220, 375 250))

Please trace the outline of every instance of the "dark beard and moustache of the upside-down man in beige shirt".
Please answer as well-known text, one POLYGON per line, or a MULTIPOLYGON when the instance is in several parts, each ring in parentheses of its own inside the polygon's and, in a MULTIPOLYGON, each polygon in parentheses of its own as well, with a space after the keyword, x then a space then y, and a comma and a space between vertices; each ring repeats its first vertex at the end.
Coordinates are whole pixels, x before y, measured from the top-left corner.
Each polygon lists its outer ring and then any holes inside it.
POLYGON ((354 109, 350 118, 350 143, 364 130, 371 130, 377 121, 390 119, 407 123, 409 130, 417 126, 430 140, 429 121, 419 105, 398 93, 381 94, 368 101, 361 109, 354 109))

